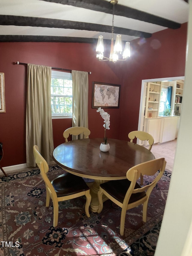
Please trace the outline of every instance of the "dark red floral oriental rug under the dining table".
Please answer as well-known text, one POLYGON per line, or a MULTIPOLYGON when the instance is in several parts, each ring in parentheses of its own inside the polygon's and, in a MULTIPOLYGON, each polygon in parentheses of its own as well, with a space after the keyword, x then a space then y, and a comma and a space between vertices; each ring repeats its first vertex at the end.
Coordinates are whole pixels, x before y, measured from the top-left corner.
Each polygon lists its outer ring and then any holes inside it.
MULTIPOLYGON (((50 178, 62 173, 57 165, 49 167, 50 178)), ((121 208, 110 200, 100 214, 90 212, 90 218, 84 211, 85 197, 60 202, 58 226, 53 227, 52 200, 45 207, 46 188, 38 168, 1 177, 0 255, 132 255, 130 246, 137 246, 144 234, 156 238, 152 234, 163 218, 170 177, 165 171, 153 189, 146 223, 142 206, 127 211, 124 236, 119 234, 121 208)), ((149 177, 145 182, 151 182, 149 177)))

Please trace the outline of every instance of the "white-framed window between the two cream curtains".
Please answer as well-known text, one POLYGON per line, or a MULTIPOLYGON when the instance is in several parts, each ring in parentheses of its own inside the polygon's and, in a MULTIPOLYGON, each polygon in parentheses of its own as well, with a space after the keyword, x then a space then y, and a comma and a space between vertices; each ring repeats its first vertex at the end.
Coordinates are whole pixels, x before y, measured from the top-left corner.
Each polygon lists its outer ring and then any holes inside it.
POLYGON ((52 118, 72 118, 72 74, 61 71, 51 72, 52 118))

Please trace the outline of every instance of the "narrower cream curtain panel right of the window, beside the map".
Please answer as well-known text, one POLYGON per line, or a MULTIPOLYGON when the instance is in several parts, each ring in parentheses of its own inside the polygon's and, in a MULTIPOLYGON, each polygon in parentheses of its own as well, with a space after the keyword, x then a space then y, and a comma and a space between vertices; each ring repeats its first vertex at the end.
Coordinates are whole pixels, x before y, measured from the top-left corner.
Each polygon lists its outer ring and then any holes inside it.
MULTIPOLYGON (((88 72, 72 70, 73 119, 72 126, 88 128, 88 72)), ((82 139, 82 134, 72 140, 82 139)))

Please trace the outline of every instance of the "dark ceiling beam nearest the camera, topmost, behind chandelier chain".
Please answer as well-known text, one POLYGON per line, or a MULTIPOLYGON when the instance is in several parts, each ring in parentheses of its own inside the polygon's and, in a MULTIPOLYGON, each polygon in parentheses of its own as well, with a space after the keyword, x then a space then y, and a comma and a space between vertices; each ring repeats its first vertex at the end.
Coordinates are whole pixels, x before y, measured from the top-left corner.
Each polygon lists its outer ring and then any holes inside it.
MULTIPOLYGON (((104 13, 113 13, 113 5, 104 0, 43 0, 46 2, 54 2, 62 5, 72 5, 75 7, 85 8, 89 10, 104 12, 104 13)), ((148 14, 143 11, 139 11, 124 5, 117 4, 115 6, 115 15, 124 16, 127 18, 132 18, 136 20, 145 21, 148 23, 160 25, 170 29, 179 29, 181 24, 176 23, 171 20, 167 20, 152 14, 148 14)))

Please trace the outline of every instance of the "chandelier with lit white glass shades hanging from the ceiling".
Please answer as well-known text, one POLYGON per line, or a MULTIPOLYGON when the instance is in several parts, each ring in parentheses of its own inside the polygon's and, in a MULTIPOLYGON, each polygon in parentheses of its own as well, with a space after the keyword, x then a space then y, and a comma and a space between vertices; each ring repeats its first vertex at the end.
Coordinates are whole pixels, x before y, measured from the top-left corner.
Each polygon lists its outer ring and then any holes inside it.
POLYGON ((122 43, 121 43, 121 35, 117 35, 116 41, 115 41, 115 46, 114 46, 114 39, 113 39, 113 31, 114 31, 114 11, 115 11, 115 5, 118 3, 116 0, 111 0, 110 3, 113 5, 113 23, 112 23, 112 39, 111 39, 111 50, 110 50, 110 57, 104 57, 104 44, 103 44, 103 36, 100 35, 98 38, 98 43, 97 43, 97 58, 100 61, 112 61, 116 62, 118 60, 126 60, 128 57, 130 57, 130 42, 125 43, 125 48, 123 51, 123 59, 119 59, 119 55, 122 53, 122 43), (104 59, 103 59, 104 58, 104 59))

